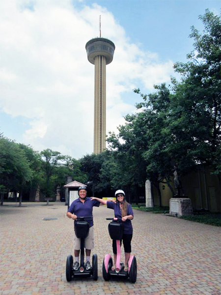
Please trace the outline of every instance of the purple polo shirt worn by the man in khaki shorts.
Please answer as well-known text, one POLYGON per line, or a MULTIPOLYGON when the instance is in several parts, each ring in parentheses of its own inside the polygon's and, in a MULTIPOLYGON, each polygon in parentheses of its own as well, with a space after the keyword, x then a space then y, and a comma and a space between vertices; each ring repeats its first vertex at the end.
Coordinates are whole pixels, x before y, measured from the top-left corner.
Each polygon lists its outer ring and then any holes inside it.
MULTIPOLYGON (((71 206, 68 209, 68 212, 71 212, 72 214, 75 214, 79 217, 81 216, 91 216, 93 218, 93 207, 99 207, 100 206, 100 202, 98 202, 97 200, 91 200, 90 198, 86 197, 85 201, 82 203, 80 201, 80 198, 74 200, 71 203, 71 206)), ((89 227, 94 225, 93 219, 86 220, 89 223, 89 227)), ((75 221, 76 222, 76 221, 75 221)))

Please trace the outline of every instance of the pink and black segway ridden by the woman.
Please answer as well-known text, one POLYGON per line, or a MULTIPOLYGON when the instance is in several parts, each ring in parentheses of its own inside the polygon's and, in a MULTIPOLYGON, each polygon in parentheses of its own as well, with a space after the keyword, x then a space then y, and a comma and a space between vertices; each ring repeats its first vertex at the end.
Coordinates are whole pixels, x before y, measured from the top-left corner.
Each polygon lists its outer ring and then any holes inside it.
POLYGON ((113 261, 110 254, 106 254, 104 261, 103 261, 103 267, 102 267, 102 273, 103 278, 105 281, 109 281, 111 277, 115 278, 128 278, 132 283, 135 283, 137 280, 137 260, 134 255, 130 256, 130 259, 128 261, 128 271, 124 271, 124 264, 120 263, 120 240, 123 236, 124 231, 124 225, 123 222, 117 218, 106 218, 107 220, 112 220, 111 223, 108 225, 108 231, 109 235, 111 236, 111 239, 116 240, 116 246, 117 246, 117 256, 116 256, 116 269, 111 270, 111 267, 113 265, 113 261))

